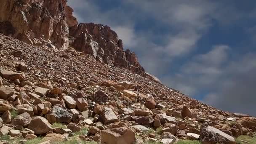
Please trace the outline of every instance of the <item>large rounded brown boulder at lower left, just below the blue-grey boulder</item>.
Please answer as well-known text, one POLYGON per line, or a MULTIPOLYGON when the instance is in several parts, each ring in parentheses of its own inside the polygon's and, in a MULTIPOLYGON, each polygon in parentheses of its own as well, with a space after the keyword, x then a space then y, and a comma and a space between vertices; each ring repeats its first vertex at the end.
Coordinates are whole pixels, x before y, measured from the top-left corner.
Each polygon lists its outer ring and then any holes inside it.
POLYGON ((35 134, 45 134, 48 131, 53 130, 51 124, 48 123, 48 120, 40 116, 33 117, 28 128, 34 131, 35 134))

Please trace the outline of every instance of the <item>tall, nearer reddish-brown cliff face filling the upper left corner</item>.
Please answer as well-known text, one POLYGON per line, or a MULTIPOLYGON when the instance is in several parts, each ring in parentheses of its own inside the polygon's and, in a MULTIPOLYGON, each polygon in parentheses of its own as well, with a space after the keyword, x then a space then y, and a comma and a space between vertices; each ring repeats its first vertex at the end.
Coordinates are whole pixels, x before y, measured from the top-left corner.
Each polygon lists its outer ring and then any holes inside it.
POLYGON ((0 0, 0 32, 33 45, 69 45, 66 0, 0 0))

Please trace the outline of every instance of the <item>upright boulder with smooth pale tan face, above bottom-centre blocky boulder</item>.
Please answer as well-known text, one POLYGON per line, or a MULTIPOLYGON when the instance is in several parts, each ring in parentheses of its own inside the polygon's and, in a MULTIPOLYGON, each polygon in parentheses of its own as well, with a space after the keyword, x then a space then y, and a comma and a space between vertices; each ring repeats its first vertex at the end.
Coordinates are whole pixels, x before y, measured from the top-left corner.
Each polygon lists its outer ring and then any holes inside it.
POLYGON ((104 124, 114 123, 118 120, 115 112, 113 112, 113 110, 108 107, 104 107, 104 110, 100 116, 104 124))

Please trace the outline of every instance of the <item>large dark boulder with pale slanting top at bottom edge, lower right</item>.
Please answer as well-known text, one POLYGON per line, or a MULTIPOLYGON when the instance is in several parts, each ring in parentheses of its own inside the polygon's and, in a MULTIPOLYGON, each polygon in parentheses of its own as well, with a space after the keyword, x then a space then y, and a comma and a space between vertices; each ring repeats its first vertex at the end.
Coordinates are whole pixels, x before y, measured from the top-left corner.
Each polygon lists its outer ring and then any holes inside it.
POLYGON ((236 144, 232 136, 209 126, 207 123, 203 124, 200 130, 200 141, 202 144, 236 144))

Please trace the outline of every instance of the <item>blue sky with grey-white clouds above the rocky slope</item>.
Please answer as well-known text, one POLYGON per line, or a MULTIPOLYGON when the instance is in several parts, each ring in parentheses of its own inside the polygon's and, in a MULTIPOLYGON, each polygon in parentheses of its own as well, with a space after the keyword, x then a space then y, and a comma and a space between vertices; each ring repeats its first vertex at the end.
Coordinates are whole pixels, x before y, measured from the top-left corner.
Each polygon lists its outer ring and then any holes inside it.
POLYGON ((231 112, 256 115, 254 0, 69 0, 79 22, 110 26, 147 72, 231 112))

